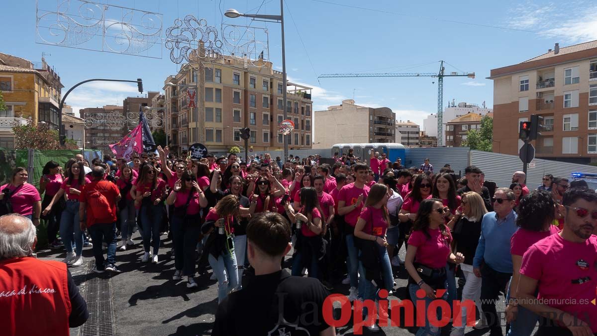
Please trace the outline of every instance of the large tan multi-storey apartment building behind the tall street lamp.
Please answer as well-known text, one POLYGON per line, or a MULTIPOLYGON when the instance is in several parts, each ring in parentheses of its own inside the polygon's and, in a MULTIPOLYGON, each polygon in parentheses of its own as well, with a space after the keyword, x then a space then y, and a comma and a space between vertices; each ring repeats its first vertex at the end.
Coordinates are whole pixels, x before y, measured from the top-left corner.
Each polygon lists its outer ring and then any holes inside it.
POLYGON ((208 151, 223 154, 233 146, 244 150, 240 129, 249 127, 253 151, 284 148, 279 123, 284 120, 283 90, 287 90, 288 119, 294 122, 290 149, 311 148, 311 88, 287 81, 270 62, 235 56, 219 57, 183 68, 164 81, 165 132, 174 152, 203 143, 208 151), (174 84, 174 85, 173 85, 174 84), (191 85, 191 86, 181 86, 191 85), (196 108, 189 108, 189 88, 195 88, 196 108))

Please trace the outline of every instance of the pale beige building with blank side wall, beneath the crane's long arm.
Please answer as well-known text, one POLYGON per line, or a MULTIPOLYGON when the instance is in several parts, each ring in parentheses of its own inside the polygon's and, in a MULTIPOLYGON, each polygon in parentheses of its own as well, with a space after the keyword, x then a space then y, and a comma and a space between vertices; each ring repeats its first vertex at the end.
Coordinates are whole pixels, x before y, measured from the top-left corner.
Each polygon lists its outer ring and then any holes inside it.
POLYGON ((315 111, 314 117, 317 142, 313 148, 329 149, 336 143, 395 141, 396 114, 389 108, 368 108, 346 99, 341 105, 315 111))

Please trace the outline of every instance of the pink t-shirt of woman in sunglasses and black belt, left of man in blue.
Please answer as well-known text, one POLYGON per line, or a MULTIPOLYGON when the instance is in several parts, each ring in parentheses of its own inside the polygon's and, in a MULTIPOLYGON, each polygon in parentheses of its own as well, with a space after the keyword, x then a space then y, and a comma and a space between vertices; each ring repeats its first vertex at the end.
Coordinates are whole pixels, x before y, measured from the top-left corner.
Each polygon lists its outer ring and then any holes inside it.
POLYGON ((448 237, 441 233, 439 228, 431 230, 427 228, 427 233, 431 238, 427 238, 423 231, 413 231, 408 238, 408 245, 416 246, 417 252, 414 260, 430 268, 443 268, 450 256, 450 242, 452 235, 450 229, 446 228, 448 237))

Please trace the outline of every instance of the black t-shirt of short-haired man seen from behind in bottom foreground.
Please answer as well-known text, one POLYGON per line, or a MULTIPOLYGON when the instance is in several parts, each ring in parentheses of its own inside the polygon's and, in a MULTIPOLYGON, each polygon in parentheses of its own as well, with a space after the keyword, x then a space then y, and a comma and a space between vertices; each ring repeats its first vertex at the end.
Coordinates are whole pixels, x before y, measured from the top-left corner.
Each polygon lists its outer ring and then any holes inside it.
POLYGON ((329 292, 319 280, 285 270, 245 277, 218 306, 212 335, 315 336, 330 327, 322 313, 329 292))

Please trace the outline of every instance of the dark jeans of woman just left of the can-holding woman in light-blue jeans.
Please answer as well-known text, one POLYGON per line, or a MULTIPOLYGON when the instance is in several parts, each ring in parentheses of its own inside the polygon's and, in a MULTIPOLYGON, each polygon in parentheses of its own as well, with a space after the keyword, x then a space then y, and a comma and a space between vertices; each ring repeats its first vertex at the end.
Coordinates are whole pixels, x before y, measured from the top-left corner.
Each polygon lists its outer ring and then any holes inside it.
POLYGON ((184 276, 195 276, 195 249, 201 233, 199 223, 184 225, 182 218, 172 216, 171 230, 174 241, 174 267, 183 271, 184 276))

